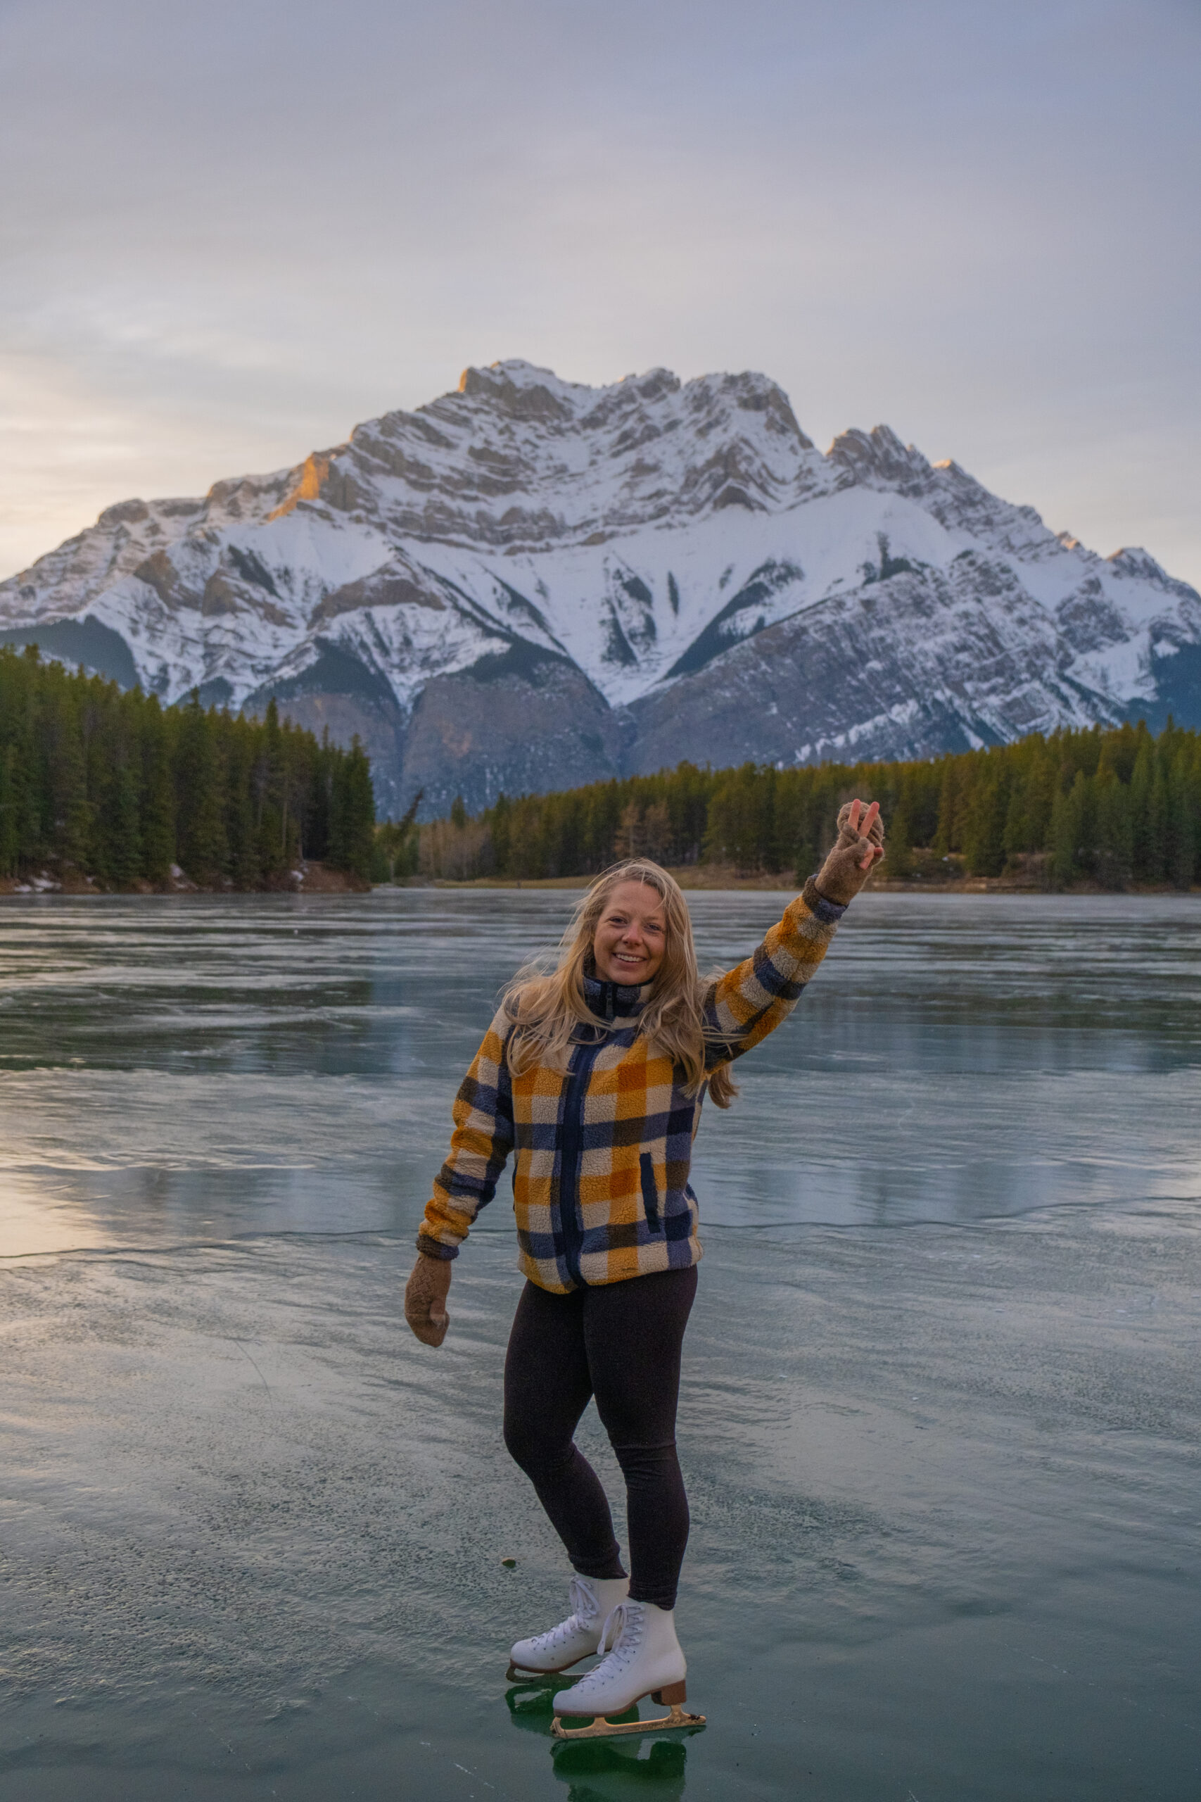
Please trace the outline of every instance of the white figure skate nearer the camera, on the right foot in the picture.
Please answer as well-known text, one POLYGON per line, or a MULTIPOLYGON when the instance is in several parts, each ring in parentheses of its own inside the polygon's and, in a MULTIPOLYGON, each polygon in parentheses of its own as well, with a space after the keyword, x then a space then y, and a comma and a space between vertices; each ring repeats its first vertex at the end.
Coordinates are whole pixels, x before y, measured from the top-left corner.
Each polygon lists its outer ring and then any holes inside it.
POLYGON ((666 1726, 704 1726, 702 1714, 688 1714, 684 1676, 688 1661, 675 1638, 675 1615, 654 1602, 618 1602, 598 1643, 607 1652, 573 1688, 555 1696, 556 1739, 609 1739, 614 1734, 650 1734, 666 1726), (634 1708, 643 1696, 666 1705, 668 1714, 652 1721, 609 1721, 610 1714, 634 1708), (564 1716, 592 1716, 591 1726, 565 1726, 564 1716))

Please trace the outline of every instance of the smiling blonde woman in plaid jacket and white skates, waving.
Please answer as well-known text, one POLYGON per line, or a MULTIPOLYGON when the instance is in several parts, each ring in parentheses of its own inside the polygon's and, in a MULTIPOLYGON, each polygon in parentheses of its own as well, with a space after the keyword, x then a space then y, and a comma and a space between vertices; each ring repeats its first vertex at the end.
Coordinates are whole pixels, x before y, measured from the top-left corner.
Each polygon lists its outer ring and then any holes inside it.
POLYGON ((443 1342, 450 1261, 517 1151, 526 1288, 504 1364, 504 1443, 574 1575, 567 1618, 519 1640, 511 1663, 556 1674, 609 1651, 555 1696, 556 1714, 616 1714, 652 1692, 684 1701, 675 1404, 700 1260, 691 1141, 706 1090, 729 1106, 733 1060, 799 1000, 882 842, 875 802, 843 807, 821 872, 753 957, 708 982, 672 876, 645 860, 616 865, 576 910, 555 973, 510 986, 456 1097, 405 1317, 425 1344, 443 1342), (628 1577, 605 1490, 573 1442, 591 1397, 625 1476, 628 1577))

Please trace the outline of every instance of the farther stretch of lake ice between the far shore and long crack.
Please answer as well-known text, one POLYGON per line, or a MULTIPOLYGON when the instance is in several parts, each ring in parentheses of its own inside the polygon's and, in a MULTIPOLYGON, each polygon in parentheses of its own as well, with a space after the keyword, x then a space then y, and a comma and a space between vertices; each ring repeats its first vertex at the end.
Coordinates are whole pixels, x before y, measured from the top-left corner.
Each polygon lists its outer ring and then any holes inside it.
MULTIPOLYGON (((781 899, 693 896, 702 960, 744 955, 781 899)), ((72 1171, 97 1243, 144 1240, 148 1184, 173 1240, 407 1233, 490 998, 569 905, 5 903, 0 1160, 72 1171)), ((702 1124, 702 1222, 1196 1198, 1199 924, 1183 897, 861 897, 738 1105, 702 1124)))

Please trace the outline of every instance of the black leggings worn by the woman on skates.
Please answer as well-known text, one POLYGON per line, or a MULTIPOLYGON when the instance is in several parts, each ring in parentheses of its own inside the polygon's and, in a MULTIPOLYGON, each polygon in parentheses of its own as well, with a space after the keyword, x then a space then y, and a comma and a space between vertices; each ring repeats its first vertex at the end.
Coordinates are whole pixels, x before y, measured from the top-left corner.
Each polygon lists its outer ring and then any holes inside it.
POLYGON ((573 1442, 596 1413, 621 1465, 630 1598, 675 1606, 688 1496, 675 1456, 675 1402, 697 1270, 553 1296, 526 1283, 504 1361, 504 1443, 582 1577, 625 1577, 596 1470, 573 1442))

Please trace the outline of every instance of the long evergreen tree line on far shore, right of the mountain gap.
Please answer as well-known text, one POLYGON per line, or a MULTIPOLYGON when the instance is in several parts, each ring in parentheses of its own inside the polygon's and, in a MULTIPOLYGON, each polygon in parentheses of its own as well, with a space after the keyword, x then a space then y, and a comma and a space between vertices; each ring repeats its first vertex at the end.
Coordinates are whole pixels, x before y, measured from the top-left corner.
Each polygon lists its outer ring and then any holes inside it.
POLYGON ((501 795, 421 827, 434 878, 589 876, 621 856, 718 863, 803 881, 843 800, 879 800, 893 879, 1025 872, 1046 888, 1201 881, 1201 735, 1170 721, 1032 733, 1016 744, 913 762, 699 769, 501 795))

